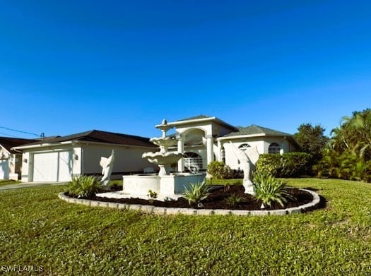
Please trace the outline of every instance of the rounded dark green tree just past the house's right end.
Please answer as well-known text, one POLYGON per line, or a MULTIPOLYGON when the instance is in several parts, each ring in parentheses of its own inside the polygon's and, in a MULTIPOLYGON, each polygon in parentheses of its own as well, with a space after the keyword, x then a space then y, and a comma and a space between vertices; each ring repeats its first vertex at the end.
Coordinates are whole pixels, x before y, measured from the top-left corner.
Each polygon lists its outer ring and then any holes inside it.
POLYGON ((294 134, 295 139, 300 145, 300 151, 310 153, 314 162, 322 158, 322 153, 326 148, 329 138, 324 136, 325 129, 322 126, 312 126, 312 124, 301 124, 298 133, 294 134))

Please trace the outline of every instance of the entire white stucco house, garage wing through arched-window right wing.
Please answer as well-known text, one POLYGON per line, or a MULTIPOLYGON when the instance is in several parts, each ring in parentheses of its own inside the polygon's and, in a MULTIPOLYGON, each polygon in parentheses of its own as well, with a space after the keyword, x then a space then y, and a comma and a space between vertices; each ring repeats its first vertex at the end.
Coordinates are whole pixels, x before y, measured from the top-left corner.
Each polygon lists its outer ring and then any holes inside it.
MULTIPOLYGON (((169 151, 182 152, 184 157, 172 169, 185 172, 196 168, 206 171, 207 165, 223 161, 232 169, 240 169, 231 148, 257 146, 262 153, 292 152, 298 143, 292 135, 262 126, 236 127, 215 116, 199 115, 167 122, 177 145, 169 151)), ((160 133, 159 133, 160 136, 160 133)), ((22 181, 69 181, 81 174, 100 174, 100 157, 115 151, 112 179, 123 174, 157 171, 158 167, 142 158, 144 152, 158 151, 149 138, 107 131, 86 131, 70 136, 45 138, 13 148, 23 152, 22 181)))

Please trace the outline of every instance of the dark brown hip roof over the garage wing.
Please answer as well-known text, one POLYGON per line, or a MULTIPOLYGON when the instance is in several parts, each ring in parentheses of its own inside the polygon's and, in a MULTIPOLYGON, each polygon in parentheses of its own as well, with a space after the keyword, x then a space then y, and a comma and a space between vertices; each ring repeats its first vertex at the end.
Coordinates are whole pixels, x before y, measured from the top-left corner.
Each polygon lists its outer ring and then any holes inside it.
POLYGON ((72 140, 95 143, 109 143, 116 145, 135 145, 139 147, 153 147, 153 148, 156 147, 153 143, 149 141, 149 138, 97 130, 71 134, 69 136, 57 136, 55 138, 47 138, 43 141, 30 143, 28 145, 38 145, 42 143, 60 143, 72 140))

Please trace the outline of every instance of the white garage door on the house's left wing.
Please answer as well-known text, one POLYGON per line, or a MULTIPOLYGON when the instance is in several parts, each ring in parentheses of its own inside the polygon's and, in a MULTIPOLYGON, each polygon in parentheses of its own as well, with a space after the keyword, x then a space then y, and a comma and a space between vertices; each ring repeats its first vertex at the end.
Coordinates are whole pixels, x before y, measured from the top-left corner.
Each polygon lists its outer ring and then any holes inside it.
POLYGON ((70 181, 72 152, 47 152, 33 155, 33 181, 70 181))

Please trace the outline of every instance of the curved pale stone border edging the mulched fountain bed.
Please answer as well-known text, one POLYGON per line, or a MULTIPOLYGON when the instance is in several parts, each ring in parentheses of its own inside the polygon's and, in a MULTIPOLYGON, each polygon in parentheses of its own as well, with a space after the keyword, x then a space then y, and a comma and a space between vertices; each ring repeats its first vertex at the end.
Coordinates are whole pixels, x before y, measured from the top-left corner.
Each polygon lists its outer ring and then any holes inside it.
POLYGON ((300 188, 302 191, 306 191, 313 196, 313 200, 305 205, 300 205, 294 208, 287 208, 281 210, 224 210, 224 209, 193 209, 193 208, 166 208, 156 207, 153 205, 140 205, 140 204, 126 204, 126 203, 108 203, 98 200, 88 200, 79 198, 70 198, 66 196, 64 192, 59 193, 58 197, 68 203, 77 203, 92 207, 107 207, 118 210, 136 210, 146 212, 148 214, 155 215, 289 215, 298 214, 307 210, 314 210, 319 207, 320 198, 317 193, 304 188, 300 188))

